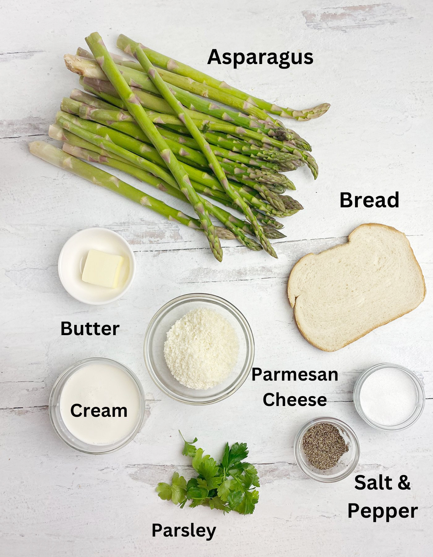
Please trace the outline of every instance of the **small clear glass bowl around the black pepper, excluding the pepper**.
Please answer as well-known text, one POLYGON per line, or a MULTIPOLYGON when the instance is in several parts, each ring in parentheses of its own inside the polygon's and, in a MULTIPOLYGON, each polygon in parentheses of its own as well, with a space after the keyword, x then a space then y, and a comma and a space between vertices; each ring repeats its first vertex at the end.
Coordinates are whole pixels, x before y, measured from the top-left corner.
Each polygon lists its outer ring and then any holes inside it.
POLYGON ((304 474, 313 480, 323 483, 338 482, 349 476, 353 470, 355 470, 360 458, 360 443, 358 442, 355 432, 347 425, 347 423, 342 422, 337 418, 314 418, 304 424, 304 426, 299 429, 294 440, 293 449, 296 462, 304 474), (348 451, 341 456, 336 466, 330 468, 329 470, 318 470, 318 468, 314 467, 308 461, 308 458, 305 456, 304 449, 302 448, 304 433, 317 423, 330 423, 335 426, 345 442, 348 444, 348 451))

